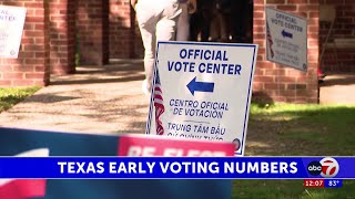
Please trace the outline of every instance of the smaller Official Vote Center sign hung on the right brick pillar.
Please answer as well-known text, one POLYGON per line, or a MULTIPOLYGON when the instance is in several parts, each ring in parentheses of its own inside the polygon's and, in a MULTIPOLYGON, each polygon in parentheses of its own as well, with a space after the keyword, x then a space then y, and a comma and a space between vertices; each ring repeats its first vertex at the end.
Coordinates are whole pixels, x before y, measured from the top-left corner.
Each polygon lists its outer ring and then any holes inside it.
POLYGON ((266 8, 266 59, 307 71, 307 20, 266 8))

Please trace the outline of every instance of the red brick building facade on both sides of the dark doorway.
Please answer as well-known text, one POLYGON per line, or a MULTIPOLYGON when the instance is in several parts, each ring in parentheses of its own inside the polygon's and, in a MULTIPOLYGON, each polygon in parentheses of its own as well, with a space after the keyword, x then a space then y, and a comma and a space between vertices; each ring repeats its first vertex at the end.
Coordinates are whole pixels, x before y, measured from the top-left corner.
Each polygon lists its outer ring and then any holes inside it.
MULTIPOLYGON (((3 0, 0 4, 28 9, 19 57, 0 59, 0 86, 48 85, 50 74, 75 72, 75 53, 80 63, 98 65, 109 63, 109 59, 143 56, 129 0, 3 0)), ((355 46, 348 44, 355 34, 354 9, 353 0, 254 0, 253 43, 260 50, 253 98, 317 103, 318 66, 325 72, 355 71, 355 46), (320 22, 320 7, 324 4, 336 9, 336 21, 320 62, 329 29, 328 23, 320 22), (266 61, 266 6, 307 19, 307 72, 266 61)))

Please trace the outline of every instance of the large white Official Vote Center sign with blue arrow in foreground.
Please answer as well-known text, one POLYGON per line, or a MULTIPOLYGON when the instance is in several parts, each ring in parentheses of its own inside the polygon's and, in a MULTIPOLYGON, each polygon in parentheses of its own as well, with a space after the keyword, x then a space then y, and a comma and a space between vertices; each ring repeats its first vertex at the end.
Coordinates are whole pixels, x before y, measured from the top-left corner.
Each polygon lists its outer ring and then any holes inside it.
POLYGON ((233 142, 243 156, 256 55, 256 44, 159 42, 146 134, 233 142))

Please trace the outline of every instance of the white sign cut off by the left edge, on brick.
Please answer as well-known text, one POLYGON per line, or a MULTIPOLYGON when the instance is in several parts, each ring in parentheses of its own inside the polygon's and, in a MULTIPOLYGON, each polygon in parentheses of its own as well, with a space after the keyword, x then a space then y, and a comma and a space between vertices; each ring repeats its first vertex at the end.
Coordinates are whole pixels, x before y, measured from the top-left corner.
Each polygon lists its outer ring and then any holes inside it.
POLYGON ((18 57, 26 8, 0 6, 0 57, 18 57))

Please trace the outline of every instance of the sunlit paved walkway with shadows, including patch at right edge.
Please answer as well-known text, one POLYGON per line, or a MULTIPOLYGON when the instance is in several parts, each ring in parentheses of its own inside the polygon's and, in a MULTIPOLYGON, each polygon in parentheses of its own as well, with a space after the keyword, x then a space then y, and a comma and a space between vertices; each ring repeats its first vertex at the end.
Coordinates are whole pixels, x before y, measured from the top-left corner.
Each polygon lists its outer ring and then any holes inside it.
MULTIPOLYGON (((140 60, 79 67, 52 76, 51 85, 0 114, 0 126, 72 133, 138 133, 145 129, 149 98, 142 94, 140 60)), ((328 75, 322 104, 355 105, 355 74, 328 75)))

